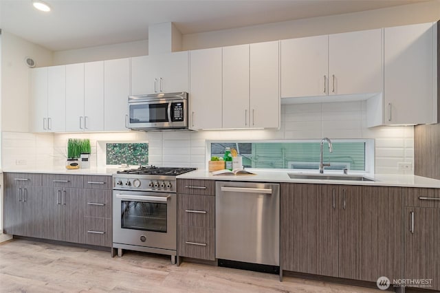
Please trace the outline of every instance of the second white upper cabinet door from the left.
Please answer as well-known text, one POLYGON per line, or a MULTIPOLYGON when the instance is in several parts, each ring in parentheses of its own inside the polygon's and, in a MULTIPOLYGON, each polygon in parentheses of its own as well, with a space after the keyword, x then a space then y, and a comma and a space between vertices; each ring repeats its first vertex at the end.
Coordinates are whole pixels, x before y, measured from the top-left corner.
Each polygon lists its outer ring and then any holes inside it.
POLYGON ((66 130, 66 67, 47 67, 47 129, 66 130))

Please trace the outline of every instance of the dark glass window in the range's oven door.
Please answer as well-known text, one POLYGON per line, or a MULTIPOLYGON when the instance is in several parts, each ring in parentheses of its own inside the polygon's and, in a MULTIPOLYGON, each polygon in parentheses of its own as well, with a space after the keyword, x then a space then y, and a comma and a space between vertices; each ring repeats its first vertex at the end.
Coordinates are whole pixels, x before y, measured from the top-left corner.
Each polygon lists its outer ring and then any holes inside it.
POLYGON ((166 204, 122 201, 121 228, 166 232, 166 204))

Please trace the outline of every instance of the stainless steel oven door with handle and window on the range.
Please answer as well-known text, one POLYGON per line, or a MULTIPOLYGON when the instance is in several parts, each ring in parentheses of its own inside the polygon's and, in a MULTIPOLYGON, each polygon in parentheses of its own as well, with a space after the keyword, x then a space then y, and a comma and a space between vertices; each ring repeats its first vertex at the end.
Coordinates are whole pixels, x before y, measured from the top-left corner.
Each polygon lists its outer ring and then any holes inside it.
POLYGON ((175 193, 113 191, 113 243, 176 250, 175 193))

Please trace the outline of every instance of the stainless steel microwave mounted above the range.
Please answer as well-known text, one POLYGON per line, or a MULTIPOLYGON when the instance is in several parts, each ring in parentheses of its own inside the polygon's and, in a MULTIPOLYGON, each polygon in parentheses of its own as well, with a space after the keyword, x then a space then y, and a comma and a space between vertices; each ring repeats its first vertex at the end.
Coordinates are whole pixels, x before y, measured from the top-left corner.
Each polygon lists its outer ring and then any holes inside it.
POLYGON ((183 91, 129 96, 129 129, 188 129, 188 93, 183 91))

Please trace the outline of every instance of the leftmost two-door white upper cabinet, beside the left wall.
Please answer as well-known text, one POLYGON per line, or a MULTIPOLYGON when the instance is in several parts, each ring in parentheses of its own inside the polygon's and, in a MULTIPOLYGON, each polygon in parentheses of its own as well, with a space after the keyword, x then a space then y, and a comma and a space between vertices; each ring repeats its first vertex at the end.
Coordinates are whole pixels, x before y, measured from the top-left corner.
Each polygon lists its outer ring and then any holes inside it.
POLYGON ((31 69, 33 132, 65 131, 65 66, 31 69))

